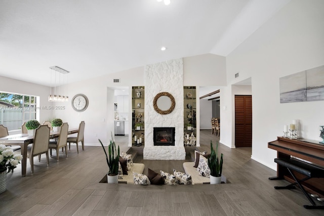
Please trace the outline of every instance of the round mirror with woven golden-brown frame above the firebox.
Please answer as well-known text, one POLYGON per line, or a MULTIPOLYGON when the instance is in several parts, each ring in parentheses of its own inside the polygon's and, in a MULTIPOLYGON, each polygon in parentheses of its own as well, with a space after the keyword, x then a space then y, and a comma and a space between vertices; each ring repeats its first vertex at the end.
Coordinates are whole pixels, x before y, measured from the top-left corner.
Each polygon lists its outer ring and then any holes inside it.
POLYGON ((174 97, 168 92, 158 93, 153 100, 154 110, 162 115, 169 114, 176 106, 174 97))

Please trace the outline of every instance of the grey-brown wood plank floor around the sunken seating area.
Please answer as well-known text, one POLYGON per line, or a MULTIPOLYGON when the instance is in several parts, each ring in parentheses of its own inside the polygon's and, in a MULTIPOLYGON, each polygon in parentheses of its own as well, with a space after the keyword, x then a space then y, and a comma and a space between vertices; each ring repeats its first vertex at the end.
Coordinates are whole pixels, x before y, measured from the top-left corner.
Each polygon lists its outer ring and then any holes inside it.
MULTIPOLYGON (((211 131, 201 131, 200 149, 209 150, 211 140, 217 141, 211 131)), ((127 141, 116 142, 127 149, 127 141)), ((269 181, 276 172, 252 160, 251 148, 220 145, 219 151, 230 184, 110 185, 99 183, 107 171, 102 148, 85 146, 77 154, 73 145, 67 158, 60 154, 59 162, 53 153, 49 167, 45 156, 41 162, 35 157, 34 174, 29 164, 26 177, 21 177, 20 167, 8 174, 7 191, 0 194, 0 215, 324 215, 324 210, 303 207, 310 203, 301 190, 274 190, 273 186, 288 183, 269 181)), ((144 172, 147 167, 181 169, 183 162, 143 161, 141 156, 137 160, 145 163, 144 172)))

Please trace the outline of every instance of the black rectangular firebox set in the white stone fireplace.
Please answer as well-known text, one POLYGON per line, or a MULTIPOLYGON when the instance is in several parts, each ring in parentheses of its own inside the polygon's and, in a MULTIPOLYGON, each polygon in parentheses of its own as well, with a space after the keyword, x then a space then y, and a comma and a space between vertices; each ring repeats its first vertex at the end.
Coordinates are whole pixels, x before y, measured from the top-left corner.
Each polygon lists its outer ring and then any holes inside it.
POLYGON ((153 143, 154 146, 174 146, 175 145, 175 127, 154 127, 153 143))

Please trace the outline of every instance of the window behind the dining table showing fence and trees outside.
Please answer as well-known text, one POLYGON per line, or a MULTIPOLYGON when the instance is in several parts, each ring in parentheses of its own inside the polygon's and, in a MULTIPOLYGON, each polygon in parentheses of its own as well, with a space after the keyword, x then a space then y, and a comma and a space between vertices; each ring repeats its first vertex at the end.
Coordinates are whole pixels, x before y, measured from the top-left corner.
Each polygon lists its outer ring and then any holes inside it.
POLYGON ((23 122, 36 119, 37 97, 0 92, 0 124, 8 131, 20 129, 23 122))

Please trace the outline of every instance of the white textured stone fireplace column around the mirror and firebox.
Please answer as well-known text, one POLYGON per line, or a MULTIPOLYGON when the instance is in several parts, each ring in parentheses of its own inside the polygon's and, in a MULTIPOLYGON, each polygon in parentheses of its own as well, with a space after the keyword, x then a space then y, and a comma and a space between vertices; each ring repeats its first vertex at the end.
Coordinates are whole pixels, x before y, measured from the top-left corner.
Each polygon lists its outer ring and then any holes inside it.
POLYGON ((145 146, 144 160, 184 160, 183 146, 183 62, 175 59, 145 66, 145 146), (168 92, 175 99, 169 114, 159 114, 153 108, 154 97, 168 92), (174 145, 154 145, 154 127, 173 127, 174 145))

